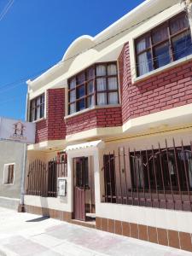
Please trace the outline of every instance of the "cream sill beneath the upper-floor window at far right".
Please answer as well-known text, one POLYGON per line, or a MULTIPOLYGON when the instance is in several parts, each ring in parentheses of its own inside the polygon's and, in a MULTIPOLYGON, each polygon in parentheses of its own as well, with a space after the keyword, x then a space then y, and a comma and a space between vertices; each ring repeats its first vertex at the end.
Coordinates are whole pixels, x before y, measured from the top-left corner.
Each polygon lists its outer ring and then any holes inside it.
POLYGON ((166 70, 168 70, 168 69, 170 69, 172 67, 175 67, 175 66, 177 66, 177 65, 179 65, 181 63, 184 63, 186 61, 189 61, 191 59, 192 59, 192 55, 188 55, 186 57, 183 57, 180 60, 177 60, 177 61, 174 61, 172 63, 169 63, 166 66, 159 67, 159 68, 157 68, 157 69, 155 69, 155 70, 153 70, 153 71, 151 71, 149 73, 143 74, 142 76, 133 79, 133 84, 137 84, 137 83, 139 83, 139 82, 141 82, 141 81, 143 81, 145 79, 149 79, 151 76, 154 76, 154 75, 156 75, 158 73, 162 73, 162 72, 164 72, 164 71, 166 71, 166 70))

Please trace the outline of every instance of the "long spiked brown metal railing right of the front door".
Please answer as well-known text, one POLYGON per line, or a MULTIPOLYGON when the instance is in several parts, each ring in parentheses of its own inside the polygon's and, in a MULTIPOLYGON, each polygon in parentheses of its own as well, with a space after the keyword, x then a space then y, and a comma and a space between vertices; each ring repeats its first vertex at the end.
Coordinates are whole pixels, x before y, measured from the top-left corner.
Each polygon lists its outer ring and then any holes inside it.
POLYGON ((105 154, 104 201, 192 211, 192 143, 105 154))

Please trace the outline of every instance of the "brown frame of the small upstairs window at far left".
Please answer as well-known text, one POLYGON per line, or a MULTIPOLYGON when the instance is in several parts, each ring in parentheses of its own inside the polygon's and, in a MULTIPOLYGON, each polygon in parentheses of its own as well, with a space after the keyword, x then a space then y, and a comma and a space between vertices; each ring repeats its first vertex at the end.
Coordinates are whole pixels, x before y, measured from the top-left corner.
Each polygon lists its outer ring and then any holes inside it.
POLYGON ((45 116, 45 94, 42 93, 39 96, 36 96, 35 98, 33 98, 32 100, 30 100, 30 113, 29 113, 29 120, 30 122, 35 122, 38 121, 39 119, 43 119, 45 116), (38 99, 40 98, 40 104, 38 104, 38 99), (43 100, 44 99, 44 100, 43 100), (35 102, 35 106, 34 108, 32 108, 32 103, 35 102), (40 111, 40 117, 37 117, 37 109, 39 109, 40 111), (43 114, 42 114, 42 110, 43 110, 43 114), (34 119, 32 119, 32 111, 34 111, 34 119))

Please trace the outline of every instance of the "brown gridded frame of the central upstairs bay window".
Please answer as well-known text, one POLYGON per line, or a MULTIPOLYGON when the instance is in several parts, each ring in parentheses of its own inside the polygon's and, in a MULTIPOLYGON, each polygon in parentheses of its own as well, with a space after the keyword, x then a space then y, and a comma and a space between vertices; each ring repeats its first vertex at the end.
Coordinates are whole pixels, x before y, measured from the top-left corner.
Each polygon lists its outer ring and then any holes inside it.
POLYGON ((117 104, 119 104, 119 73, 118 73, 118 63, 117 61, 108 61, 108 62, 97 62, 93 65, 91 65, 90 67, 87 67, 85 68, 83 71, 75 74, 73 77, 69 78, 67 80, 67 114, 68 115, 71 115, 71 114, 74 114, 74 113, 79 113, 79 111, 82 111, 84 109, 89 109, 89 108, 93 108, 94 106, 99 106, 99 107, 102 107, 102 106, 113 106, 114 104, 109 104, 109 93, 112 93, 112 92, 116 92, 117 93, 117 96, 118 96, 118 102, 117 104), (108 66, 109 65, 115 65, 116 66, 116 74, 114 75, 108 75, 108 66), (97 66, 100 66, 100 65, 103 65, 105 66, 105 69, 106 69, 106 74, 105 75, 101 75, 101 76, 97 76, 96 75, 96 67, 97 66), (88 71, 90 69, 93 69, 93 76, 88 78, 88 71), (82 83, 80 84, 77 84, 77 78, 78 76, 81 74, 81 73, 84 73, 84 76, 85 76, 85 79, 82 83), (109 90, 108 89, 108 79, 109 78, 116 78, 117 79, 117 89, 115 90, 109 90), (74 88, 70 88, 70 82, 75 79, 75 86, 74 88), (97 79, 106 79, 106 90, 97 90, 97 79), (93 91, 88 93, 88 84, 90 82, 93 82, 93 91), (81 97, 78 97, 78 89, 80 87, 84 86, 84 96, 81 96, 81 97), (70 92, 72 91, 75 91, 75 100, 73 100, 72 102, 70 102, 70 92), (98 94, 102 94, 102 93, 105 93, 107 95, 107 102, 106 104, 103 104, 103 105, 98 105, 98 102, 97 102, 97 95, 98 94), (93 103, 92 105, 90 106, 88 104, 88 98, 92 96, 93 97, 93 103), (82 109, 79 109, 78 108, 78 102, 80 102, 81 100, 84 100, 84 108, 82 109), (70 106, 72 104, 75 104, 75 111, 73 113, 70 113, 70 106))

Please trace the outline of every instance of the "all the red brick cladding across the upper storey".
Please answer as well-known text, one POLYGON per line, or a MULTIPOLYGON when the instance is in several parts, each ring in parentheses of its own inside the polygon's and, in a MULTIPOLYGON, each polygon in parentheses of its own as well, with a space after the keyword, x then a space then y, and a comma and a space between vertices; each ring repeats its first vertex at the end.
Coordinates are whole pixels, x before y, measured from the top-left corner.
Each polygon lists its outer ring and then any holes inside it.
POLYGON ((129 44, 119 55, 121 107, 65 116, 65 89, 47 92, 46 119, 37 122, 36 143, 64 139, 93 128, 120 126, 128 119, 192 103, 192 61, 132 84, 129 44))

